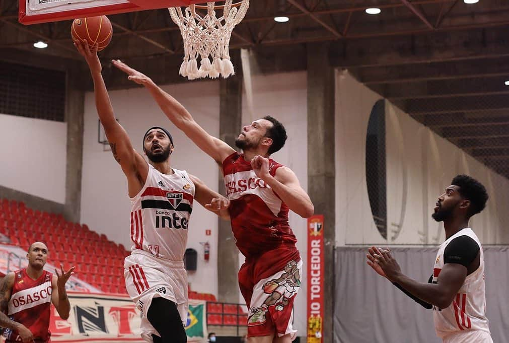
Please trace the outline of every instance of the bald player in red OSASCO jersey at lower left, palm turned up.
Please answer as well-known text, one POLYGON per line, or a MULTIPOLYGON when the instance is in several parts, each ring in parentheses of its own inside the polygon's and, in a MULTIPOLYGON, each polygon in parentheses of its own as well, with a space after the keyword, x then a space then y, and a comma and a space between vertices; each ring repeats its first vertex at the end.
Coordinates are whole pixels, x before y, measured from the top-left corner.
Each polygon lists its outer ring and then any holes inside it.
POLYGON ((72 267, 61 274, 55 269, 53 275, 44 270, 48 247, 41 242, 33 243, 26 258, 29 265, 8 273, 0 286, 0 326, 6 343, 50 342, 49 318, 51 303, 62 319, 69 318, 71 304, 65 284, 74 274, 72 267))

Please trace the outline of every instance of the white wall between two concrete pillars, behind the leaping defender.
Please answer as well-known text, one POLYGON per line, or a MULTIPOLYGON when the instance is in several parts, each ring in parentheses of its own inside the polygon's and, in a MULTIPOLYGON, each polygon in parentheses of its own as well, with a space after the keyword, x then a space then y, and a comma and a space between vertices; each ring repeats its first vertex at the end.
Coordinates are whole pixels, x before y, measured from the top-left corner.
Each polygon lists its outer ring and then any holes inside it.
MULTIPOLYGON (((297 175, 302 188, 307 190, 307 80, 305 72, 258 75, 252 77, 254 113, 250 118, 247 101, 242 100, 242 123, 251 123, 270 115, 279 120, 287 130, 285 146, 271 156, 286 165, 297 175)), ((306 280, 307 236, 306 219, 290 211, 290 225, 297 237, 297 248, 303 260, 302 279, 306 280)), ((239 254, 240 265, 244 256, 239 254)), ((294 327, 299 336, 306 335, 306 283, 302 282, 295 300, 294 327)), ((244 303, 242 296, 239 301, 244 303)))

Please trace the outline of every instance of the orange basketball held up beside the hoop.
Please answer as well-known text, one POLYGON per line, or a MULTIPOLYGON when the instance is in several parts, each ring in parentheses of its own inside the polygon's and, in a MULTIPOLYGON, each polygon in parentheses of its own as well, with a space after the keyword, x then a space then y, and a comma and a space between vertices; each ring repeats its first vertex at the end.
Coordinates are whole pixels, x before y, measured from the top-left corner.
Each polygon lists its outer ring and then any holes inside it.
POLYGON ((90 47, 99 44, 97 51, 108 46, 113 34, 111 22, 105 15, 74 19, 71 25, 73 42, 77 39, 87 40, 90 47))

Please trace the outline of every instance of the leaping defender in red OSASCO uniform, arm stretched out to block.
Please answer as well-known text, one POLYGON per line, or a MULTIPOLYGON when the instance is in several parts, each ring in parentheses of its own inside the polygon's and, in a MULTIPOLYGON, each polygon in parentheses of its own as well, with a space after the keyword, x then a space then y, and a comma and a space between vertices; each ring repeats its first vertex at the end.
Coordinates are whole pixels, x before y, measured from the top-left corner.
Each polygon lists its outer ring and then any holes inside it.
POLYGON ((149 77, 120 61, 114 65, 143 84, 169 120, 222 167, 233 234, 246 257, 239 286, 249 307, 249 342, 290 342, 296 336, 292 305, 302 261, 288 211, 307 218, 314 207, 292 170, 269 158, 285 144, 284 126, 269 116, 244 126, 235 142, 238 153, 208 134, 149 77))

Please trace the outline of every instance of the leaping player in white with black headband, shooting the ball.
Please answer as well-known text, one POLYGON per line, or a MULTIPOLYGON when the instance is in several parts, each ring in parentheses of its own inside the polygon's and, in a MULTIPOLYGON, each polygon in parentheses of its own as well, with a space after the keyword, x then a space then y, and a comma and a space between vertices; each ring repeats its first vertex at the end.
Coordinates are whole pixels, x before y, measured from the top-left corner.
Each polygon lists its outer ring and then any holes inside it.
POLYGON ((154 343, 185 343, 188 296, 183 258, 193 201, 225 218, 229 201, 200 179, 171 167, 174 144, 167 130, 153 127, 143 137, 149 163, 133 149, 115 119, 97 44, 92 49, 86 41, 74 45, 90 67, 99 119, 127 177, 133 246, 125 259, 124 276, 129 296, 142 311, 142 337, 154 343))

